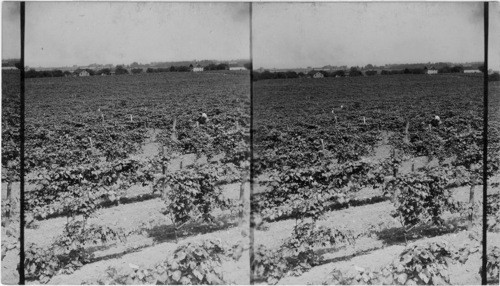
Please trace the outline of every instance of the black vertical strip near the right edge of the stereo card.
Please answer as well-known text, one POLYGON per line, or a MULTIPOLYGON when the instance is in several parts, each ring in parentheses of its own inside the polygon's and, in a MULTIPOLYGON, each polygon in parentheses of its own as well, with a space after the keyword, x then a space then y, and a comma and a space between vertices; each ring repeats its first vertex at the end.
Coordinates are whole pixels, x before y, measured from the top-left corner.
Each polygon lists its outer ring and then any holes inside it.
POLYGON ((484 117, 483 117, 483 256, 481 267, 481 284, 487 285, 486 264, 488 260, 486 247, 487 232, 487 194, 488 194, 488 2, 484 2, 484 117))

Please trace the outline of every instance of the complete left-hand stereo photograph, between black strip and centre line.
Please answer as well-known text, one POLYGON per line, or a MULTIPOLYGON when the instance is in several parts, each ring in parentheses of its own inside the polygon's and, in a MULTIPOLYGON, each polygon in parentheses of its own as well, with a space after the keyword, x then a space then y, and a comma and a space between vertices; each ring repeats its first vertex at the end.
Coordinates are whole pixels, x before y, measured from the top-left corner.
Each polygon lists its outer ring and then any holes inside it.
POLYGON ((27 283, 250 283, 250 13, 26 3, 27 283))

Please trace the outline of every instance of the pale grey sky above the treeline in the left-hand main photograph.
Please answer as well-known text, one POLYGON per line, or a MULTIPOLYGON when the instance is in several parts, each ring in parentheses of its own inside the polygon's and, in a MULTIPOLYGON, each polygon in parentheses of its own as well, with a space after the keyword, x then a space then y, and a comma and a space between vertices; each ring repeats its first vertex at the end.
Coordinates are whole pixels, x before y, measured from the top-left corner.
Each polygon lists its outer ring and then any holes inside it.
POLYGON ((250 58, 247 3, 27 2, 30 67, 250 58))

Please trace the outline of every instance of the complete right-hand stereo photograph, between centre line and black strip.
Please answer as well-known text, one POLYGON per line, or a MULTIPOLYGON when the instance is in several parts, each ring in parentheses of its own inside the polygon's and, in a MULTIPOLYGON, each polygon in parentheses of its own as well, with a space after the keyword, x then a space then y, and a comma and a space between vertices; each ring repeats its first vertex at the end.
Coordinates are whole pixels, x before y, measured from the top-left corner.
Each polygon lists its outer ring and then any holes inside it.
POLYGON ((252 13, 252 282, 481 284, 483 3, 252 13))

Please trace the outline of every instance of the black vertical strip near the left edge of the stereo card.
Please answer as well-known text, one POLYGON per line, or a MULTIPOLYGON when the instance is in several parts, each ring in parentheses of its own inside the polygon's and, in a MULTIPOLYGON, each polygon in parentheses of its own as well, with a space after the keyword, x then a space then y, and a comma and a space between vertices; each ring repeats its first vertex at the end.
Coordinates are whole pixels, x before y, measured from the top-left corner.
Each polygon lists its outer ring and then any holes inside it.
POLYGON ((20 172, 19 172, 19 201, 20 201, 20 211, 19 211, 19 284, 25 284, 24 277, 24 2, 21 2, 21 117, 20 117, 20 130, 19 135, 21 138, 20 142, 20 172))

